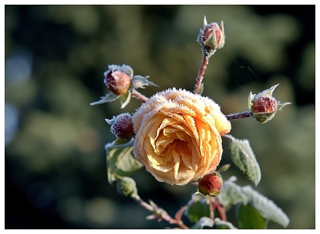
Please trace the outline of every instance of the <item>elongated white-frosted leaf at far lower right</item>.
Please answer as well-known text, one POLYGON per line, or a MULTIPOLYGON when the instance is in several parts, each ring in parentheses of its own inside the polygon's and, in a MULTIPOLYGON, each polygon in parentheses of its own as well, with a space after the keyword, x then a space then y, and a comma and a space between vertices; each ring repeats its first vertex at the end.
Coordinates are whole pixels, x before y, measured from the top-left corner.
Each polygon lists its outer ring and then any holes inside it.
POLYGON ((250 205, 259 211, 262 217, 276 222, 283 227, 289 225, 290 220, 288 216, 273 201, 253 190, 250 186, 245 186, 242 190, 247 196, 250 205))

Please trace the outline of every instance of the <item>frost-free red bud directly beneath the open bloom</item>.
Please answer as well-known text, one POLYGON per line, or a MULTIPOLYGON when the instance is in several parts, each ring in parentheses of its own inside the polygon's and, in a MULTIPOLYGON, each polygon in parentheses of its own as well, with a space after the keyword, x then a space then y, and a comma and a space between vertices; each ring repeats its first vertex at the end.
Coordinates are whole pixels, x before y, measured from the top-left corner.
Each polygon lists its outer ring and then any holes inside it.
POLYGON ((216 197, 220 194, 222 182, 223 180, 219 173, 207 174, 200 180, 198 191, 204 195, 216 197))

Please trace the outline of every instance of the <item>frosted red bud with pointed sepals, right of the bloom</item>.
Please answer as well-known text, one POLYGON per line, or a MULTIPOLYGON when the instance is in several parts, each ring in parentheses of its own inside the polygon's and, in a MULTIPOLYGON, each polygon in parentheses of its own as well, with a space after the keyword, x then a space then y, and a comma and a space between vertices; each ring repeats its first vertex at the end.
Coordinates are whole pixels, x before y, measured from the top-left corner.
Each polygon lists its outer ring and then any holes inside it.
POLYGON ((269 89, 266 89, 258 94, 252 94, 250 92, 248 98, 248 107, 252 111, 253 117, 260 123, 264 124, 270 121, 278 110, 281 110, 284 106, 291 104, 290 102, 280 103, 273 96, 273 91, 278 86, 274 85, 269 89))

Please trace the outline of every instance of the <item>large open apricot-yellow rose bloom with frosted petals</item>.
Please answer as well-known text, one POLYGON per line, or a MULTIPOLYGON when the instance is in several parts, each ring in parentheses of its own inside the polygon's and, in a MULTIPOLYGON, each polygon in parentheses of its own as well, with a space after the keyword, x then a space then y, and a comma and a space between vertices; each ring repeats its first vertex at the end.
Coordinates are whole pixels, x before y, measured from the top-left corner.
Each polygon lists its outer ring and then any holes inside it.
POLYGON ((216 170, 221 135, 231 130, 217 103, 175 88, 149 98, 132 119, 137 160, 159 182, 177 185, 216 170))

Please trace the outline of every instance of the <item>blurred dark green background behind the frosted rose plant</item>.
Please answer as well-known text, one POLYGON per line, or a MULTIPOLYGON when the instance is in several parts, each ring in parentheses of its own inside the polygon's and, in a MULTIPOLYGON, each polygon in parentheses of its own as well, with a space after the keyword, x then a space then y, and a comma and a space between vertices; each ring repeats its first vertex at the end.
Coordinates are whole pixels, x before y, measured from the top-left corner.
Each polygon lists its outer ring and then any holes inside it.
MULTIPOLYGON (((108 64, 130 65, 160 87, 193 90, 202 53, 203 16, 224 20, 226 44, 209 61, 204 93, 225 114, 247 110, 247 98, 280 83, 290 101, 267 124, 232 122, 261 167, 256 187, 290 218, 289 229, 315 228, 315 6, 6 5, 5 228, 162 229, 107 181, 104 144, 115 138, 105 118, 133 113, 120 102, 90 106, 108 93, 108 64)), ((223 142, 221 165, 231 163, 223 142)), ((251 185, 232 165, 240 185, 251 185)), ((174 216, 196 190, 133 175, 142 199, 174 216)), ((227 215, 234 222, 234 214, 227 215)), ((186 221, 186 220, 184 220, 186 221)), ((186 221, 188 223, 188 221, 186 221)), ((274 223, 269 228, 282 228, 274 223)))

